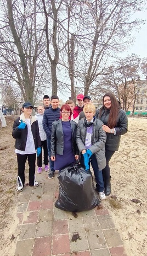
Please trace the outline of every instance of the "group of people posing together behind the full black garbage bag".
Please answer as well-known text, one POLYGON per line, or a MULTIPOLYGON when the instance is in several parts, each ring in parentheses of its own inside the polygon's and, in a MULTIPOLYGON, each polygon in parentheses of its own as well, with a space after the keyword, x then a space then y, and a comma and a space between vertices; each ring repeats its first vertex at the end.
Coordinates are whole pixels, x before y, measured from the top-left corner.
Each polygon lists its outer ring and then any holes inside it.
POLYGON ((13 137, 18 159, 17 191, 24 189, 25 162, 29 162, 29 185, 38 186, 35 178, 37 151, 38 173, 42 173, 42 147, 44 170, 48 178, 54 177, 55 170, 74 165, 78 160, 86 170, 92 165, 96 190, 100 200, 111 193, 109 161, 118 151, 121 135, 127 132, 128 120, 116 97, 106 93, 103 106, 95 110, 91 97, 77 95, 77 106, 67 100, 59 108, 59 98, 50 99, 44 95, 43 105, 38 114, 32 116, 33 106, 26 102, 23 113, 14 121, 13 137), (48 166, 49 159, 49 166, 48 166))

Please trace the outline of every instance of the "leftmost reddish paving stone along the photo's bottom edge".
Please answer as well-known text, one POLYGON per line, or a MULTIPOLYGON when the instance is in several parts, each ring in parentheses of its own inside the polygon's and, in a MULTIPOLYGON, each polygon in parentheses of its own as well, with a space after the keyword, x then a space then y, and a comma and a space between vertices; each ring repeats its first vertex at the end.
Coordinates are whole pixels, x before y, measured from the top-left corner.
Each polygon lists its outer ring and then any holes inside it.
MULTIPOLYGON (((33 247, 33 256, 47 256, 51 251, 51 237, 41 237, 35 239, 33 247)), ((31 255, 31 254, 29 254, 31 255)), ((29 256, 28 255, 28 256, 29 256)))

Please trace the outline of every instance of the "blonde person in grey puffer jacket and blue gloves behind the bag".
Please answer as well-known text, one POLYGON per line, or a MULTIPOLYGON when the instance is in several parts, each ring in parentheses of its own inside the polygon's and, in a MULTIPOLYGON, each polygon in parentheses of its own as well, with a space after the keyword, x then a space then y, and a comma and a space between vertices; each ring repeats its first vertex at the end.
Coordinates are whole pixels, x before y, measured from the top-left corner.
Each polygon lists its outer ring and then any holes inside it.
POLYGON ((103 122, 95 118, 95 106, 88 103, 83 112, 86 118, 77 124, 76 143, 81 153, 81 164, 89 169, 92 164, 97 191, 101 200, 105 199, 102 169, 106 166, 105 142, 106 132, 102 129, 103 122))

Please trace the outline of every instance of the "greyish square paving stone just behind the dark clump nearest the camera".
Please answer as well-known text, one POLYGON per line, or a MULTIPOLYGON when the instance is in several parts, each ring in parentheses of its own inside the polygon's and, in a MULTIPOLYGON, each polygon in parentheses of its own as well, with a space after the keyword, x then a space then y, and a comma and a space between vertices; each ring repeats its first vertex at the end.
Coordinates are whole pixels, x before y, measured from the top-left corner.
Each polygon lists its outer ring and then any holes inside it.
POLYGON ((80 232, 84 231, 84 225, 83 225, 83 220, 82 218, 72 218, 68 220, 69 222, 69 232, 80 232))

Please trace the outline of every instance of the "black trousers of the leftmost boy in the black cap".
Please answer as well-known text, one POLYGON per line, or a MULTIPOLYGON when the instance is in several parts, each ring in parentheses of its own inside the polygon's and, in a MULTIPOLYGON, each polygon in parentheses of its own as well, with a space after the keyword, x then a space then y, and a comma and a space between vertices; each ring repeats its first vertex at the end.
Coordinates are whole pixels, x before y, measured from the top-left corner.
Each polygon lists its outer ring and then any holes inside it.
POLYGON ((35 154, 18 154, 18 176, 21 179, 22 184, 25 184, 25 163, 26 160, 29 163, 29 185, 33 186, 35 181, 35 162, 36 162, 36 153, 35 154))

